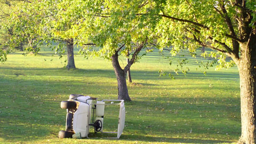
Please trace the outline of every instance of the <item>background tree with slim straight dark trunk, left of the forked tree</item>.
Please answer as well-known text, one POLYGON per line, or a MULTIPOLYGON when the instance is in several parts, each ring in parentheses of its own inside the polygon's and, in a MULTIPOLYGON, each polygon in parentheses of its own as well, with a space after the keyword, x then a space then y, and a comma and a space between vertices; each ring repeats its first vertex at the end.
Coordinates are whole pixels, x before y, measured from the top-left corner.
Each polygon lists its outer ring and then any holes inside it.
POLYGON ((66 43, 66 50, 62 47, 58 47, 55 51, 59 52, 60 55, 66 52, 67 54, 67 69, 75 69, 75 60, 74 60, 74 45, 78 34, 71 31, 71 27, 76 25, 76 20, 81 18, 79 14, 73 14, 68 11, 67 7, 69 4, 75 3, 76 1, 55 1, 46 3, 46 7, 51 7, 53 11, 49 11, 48 15, 51 15, 49 18, 50 21, 47 23, 47 27, 51 33, 52 39, 54 41, 66 43))

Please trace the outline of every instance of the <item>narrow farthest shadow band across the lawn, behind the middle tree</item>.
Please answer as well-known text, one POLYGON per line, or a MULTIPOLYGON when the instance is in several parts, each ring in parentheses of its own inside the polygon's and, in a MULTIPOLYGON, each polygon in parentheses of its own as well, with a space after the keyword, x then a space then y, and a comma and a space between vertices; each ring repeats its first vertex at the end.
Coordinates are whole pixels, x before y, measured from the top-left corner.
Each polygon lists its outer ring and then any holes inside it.
MULTIPOLYGON (((65 68, 9 68, 9 67, 1 67, 1 71, 17 71, 16 73, 5 73, 5 75, 17 75, 17 76, 26 76, 28 74, 31 75, 47 75, 47 76, 70 76, 70 74, 74 74, 72 76, 79 77, 79 76, 87 76, 87 77, 111 77, 116 78, 114 69, 75 69, 75 70, 67 70, 65 68), (56 73, 58 72, 58 73, 56 73), (58 75, 56 75, 58 74, 58 75)), ((133 79, 159 79, 158 71, 147 71, 147 70, 131 70, 132 78, 133 79)), ((213 78, 213 79, 234 79, 239 78, 238 73, 235 72, 225 72, 225 71, 214 71, 207 73, 205 76, 201 71, 198 72, 191 72, 188 73, 186 76, 175 75, 175 78, 178 79, 194 79, 194 78, 213 78)), ((169 76, 162 76, 161 79, 171 79, 169 76)))

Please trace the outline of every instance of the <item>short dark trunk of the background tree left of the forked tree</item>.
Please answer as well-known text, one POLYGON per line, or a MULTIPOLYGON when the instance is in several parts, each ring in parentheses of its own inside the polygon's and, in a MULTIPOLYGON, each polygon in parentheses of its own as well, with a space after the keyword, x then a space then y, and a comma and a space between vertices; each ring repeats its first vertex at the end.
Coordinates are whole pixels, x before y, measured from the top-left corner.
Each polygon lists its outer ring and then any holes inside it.
POLYGON ((68 65, 67 69, 75 69, 75 59, 74 59, 74 42, 73 38, 68 39, 67 41, 67 57, 68 57, 68 65))

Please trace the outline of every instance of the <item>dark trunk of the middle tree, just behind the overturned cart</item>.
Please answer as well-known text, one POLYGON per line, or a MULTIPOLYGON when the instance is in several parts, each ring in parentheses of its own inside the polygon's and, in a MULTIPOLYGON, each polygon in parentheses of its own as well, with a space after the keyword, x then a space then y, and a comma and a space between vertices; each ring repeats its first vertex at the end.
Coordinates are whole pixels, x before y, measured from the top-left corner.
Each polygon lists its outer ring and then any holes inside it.
POLYGON ((115 70, 117 84, 118 84, 118 100, 125 100, 125 101, 131 101, 131 98, 129 97, 127 84, 126 84, 126 71, 124 71, 118 62, 118 54, 114 54, 111 57, 112 59, 112 65, 115 70))

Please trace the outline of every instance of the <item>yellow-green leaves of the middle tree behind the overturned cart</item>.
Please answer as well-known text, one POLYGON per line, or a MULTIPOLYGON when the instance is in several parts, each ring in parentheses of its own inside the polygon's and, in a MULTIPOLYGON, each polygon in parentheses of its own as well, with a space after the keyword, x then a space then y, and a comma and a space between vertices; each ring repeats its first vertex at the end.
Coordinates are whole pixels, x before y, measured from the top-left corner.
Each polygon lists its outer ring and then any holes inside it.
MULTIPOLYGON (((91 2, 84 2, 88 5, 91 2)), ((151 2, 154 3, 154 2, 151 2)), ((79 23, 83 35, 81 42, 92 42, 100 47, 97 55, 110 59, 119 52, 133 53, 145 39, 153 41, 154 27, 148 21, 150 6, 143 1, 94 1, 94 7, 87 10, 87 18, 79 23), (141 7, 140 7, 141 6, 141 7), (93 20, 92 20, 93 19, 93 20), (90 21, 90 22, 89 22, 90 21), (122 49, 121 45, 125 44, 122 49)), ((139 58, 139 57, 136 57, 139 58)))

